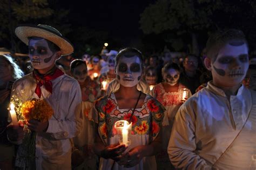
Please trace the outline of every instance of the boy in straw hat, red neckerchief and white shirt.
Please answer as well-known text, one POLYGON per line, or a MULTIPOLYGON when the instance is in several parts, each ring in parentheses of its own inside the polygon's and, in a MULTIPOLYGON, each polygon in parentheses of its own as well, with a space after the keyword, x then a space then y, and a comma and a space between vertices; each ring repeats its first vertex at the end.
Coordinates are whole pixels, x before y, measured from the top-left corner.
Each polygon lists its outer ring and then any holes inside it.
POLYGON ((55 61, 62 55, 71 54, 73 46, 48 25, 22 25, 15 33, 29 46, 34 70, 15 81, 12 96, 23 102, 45 99, 53 110, 48 121, 32 119, 26 122, 29 130, 36 132, 34 157, 26 154, 29 148, 22 142, 23 123, 9 126, 9 140, 20 144, 15 164, 25 169, 71 169, 70 139, 79 133, 82 125, 82 97, 77 80, 59 70, 55 61))

